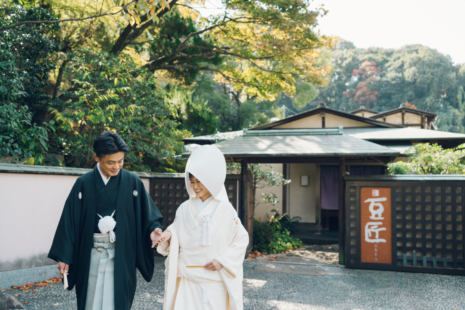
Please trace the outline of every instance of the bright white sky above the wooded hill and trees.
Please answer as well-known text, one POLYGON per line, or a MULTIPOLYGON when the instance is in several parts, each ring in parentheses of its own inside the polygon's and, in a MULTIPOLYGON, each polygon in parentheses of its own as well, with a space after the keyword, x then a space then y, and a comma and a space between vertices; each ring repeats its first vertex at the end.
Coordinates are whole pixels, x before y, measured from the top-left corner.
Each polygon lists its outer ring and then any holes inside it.
MULTIPOLYGON (((421 44, 465 64, 465 0, 314 0, 329 12, 319 30, 355 46, 399 48, 421 44)), ((219 0, 206 0, 202 14, 218 13, 219 0)))

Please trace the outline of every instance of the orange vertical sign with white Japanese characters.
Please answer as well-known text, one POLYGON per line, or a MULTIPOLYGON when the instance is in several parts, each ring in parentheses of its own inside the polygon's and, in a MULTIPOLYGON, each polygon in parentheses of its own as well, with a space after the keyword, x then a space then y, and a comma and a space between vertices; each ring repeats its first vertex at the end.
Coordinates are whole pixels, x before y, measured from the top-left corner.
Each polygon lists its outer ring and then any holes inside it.
POLYGON ((391 188, 360 188, 362 263, 392 264, 391 188))

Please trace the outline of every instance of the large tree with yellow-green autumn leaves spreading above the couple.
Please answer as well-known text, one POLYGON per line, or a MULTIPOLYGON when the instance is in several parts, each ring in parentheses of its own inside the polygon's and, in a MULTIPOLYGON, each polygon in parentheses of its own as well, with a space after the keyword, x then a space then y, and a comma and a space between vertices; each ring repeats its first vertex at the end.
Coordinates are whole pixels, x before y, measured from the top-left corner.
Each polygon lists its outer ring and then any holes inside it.
MULTIPOLYGON (((53 22, 62 25, 59 71, 73 49, 93 46, 112 54, 128 53, 160 77, 167 74, 187 85, 199 72, 213 72, 230 91, 251 99, 292 94, 296 80, 324 83, 329 72, 318 57, 324 47, 332 46, 333 38, 313 30, 326 11, 312 10, 300 0, 224 0, 224 12, 206 18, 179 0, 97 0, 92 6, 80 0, 40 3, 59 17, 53 22), (121 17, 122 12, 126 13, 121 17)), ((56 73, 55 88, 61 83, 72 90, 79 87, 56 73)), ((239 108, 241 103, 236 100, 235 105, 239 108)))

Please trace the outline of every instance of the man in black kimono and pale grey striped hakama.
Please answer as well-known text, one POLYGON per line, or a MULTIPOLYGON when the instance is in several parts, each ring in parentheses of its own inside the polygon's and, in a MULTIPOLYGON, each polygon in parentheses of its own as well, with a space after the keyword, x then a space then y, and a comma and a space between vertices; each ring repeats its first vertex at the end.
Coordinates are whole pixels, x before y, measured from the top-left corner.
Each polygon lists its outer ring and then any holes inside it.
POLYGON ((128 310, 136 268, 147 282, 152 279, 151 246, 161 235, 163 217, 140 178, 122 169, 129 148, 118 134, 103 132, 93 149, 97 166, 74 183, 48 257, 68 275, 68 290, 76 286, 78 310, 128 310))

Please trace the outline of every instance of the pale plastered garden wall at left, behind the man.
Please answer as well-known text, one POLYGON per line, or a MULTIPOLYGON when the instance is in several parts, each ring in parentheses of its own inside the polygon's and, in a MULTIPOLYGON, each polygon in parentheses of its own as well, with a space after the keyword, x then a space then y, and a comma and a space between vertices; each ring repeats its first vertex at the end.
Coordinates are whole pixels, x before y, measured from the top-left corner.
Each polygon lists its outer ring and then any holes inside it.
POLYGON ((55 264, 46 256, 78 177, 0 173, 0 271, 55 264))

